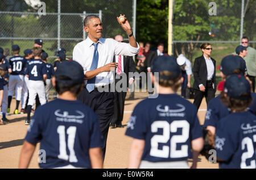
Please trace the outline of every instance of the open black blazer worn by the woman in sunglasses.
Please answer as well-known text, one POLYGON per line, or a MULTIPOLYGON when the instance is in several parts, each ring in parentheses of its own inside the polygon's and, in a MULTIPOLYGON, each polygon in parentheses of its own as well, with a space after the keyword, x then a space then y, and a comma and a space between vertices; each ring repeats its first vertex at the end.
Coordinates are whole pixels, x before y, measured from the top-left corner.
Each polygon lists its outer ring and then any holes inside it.
MULTIPOLYGON (((213 73, 213 84, 214 84, 214 91, 216 91, 216 61, 214 58, 210 57, 210 59, 213 62, 214 65, 214 73, 213 73)), ((195 58, 195 62, 193 65, 193 76, 194 76, 194 83, 193 83, 193 88, 200 90, 199 85, 202 83, 204 87, 206 88, 207 86, 207 65, 205 62, 204 56, 200 56, 195 58)))

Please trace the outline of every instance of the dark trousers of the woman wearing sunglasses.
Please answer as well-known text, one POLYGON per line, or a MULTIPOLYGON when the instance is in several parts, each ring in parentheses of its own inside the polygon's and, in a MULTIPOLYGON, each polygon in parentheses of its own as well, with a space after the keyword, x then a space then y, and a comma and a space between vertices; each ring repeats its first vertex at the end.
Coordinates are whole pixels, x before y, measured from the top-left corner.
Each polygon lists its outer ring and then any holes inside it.
POLYGON ((211 99, 213 99, 215 97, 215 91, 214 91, 212 85, 213 85, 212 82, 207 81, 207 87, 205 87, 204 92, 195 89, 195 99, 194 99, 193 104, 196 105, 197 110, 199 110, 199 107, 200 107, 201 102, 204 97, 206 99, 207 104, 210 102, 211 99))

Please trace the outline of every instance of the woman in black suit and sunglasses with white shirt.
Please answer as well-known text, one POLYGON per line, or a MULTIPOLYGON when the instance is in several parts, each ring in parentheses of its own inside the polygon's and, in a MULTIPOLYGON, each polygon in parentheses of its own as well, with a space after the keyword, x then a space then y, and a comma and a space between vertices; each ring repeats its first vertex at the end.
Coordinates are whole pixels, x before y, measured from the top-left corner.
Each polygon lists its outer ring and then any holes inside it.
POLYGON ((210 57, 210 53, 212 53, 212 45, 204 43, 200 48, 203 55, 195 59, 193 66, 193 76, 195 78, 195 82, 193 83, 195 100, 193 104, 196 105, 197 110, 204 97, 208 104, 210 100, 215 97, 216 92, 216 61, 210 57))

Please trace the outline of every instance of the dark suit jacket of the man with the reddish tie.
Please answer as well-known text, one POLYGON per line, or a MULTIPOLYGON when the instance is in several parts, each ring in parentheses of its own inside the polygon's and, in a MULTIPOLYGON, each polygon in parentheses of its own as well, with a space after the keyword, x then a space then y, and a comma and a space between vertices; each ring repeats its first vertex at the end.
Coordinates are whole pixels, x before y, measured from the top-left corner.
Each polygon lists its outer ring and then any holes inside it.
MULTIPOLYGON (((115 56, 113 58, 113 62, 118 62, 115 61, 115 56)), ((129 72, 135 72, 135 63, 133 61, 133 56, 123 56, 123 71, 127 76, 127 86, 129 85, 129 79, 131 77, 129 77, 129 72)), ((134 78, 134 77, 132 77, 134 78)))

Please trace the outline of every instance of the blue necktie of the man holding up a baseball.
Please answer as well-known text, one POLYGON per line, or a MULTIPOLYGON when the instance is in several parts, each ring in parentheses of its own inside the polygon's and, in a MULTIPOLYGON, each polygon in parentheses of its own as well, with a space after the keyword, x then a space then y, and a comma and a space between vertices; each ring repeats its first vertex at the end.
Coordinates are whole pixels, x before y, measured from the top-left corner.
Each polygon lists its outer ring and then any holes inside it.
MULTIPOLYGON (((97 69, 97 66, 98 66, 98 43, 93 43, 93 45, 94 45, 94 53, 93 53, 92 65, 90 65, 90 70, 97 69)), ((96 79, 96 76, 87 81, 86 89, 88 90, 89 93, 94 90, 95 79, 96 79)))

